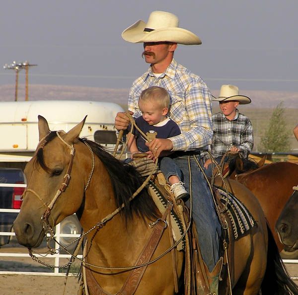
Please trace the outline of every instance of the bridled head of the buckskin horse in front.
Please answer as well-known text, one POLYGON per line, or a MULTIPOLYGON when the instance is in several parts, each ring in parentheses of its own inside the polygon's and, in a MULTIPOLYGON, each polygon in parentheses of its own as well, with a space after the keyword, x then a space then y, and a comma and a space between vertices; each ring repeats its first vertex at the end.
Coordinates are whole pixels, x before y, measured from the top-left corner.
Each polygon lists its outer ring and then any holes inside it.
POLYGON ((75 213, 81 200, 66 198, 69 193, 82 187, 83 178, 70 176, 74 160, 74 145, 84 125, 86 117, 69 132, 51 132, 48 122, 38 116, 39 144, 24 173, 27 188, 23 203, 13 228, 21 245, 37 247, 42 242, 45 231, 65 217, 75 213), (72 181, 70 181, 72 177, 72 181))

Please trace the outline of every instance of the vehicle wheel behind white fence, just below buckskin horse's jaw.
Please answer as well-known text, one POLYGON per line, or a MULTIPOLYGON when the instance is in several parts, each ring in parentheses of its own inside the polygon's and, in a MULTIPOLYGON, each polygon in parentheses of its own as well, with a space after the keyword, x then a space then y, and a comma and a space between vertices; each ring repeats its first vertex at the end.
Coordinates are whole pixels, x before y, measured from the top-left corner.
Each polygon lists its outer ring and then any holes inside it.
MULTIPOLYGON (((76 217, 76 215, 71 215, 65 218, 60 222, 60 233, 61 234, 80 234, 81 233, 81 225, 76 217)), ((77 237, 60 237, 60 243, 63 246, 68 245, 72 241, 74 241, 77 237)), ((68 251, 73 252, 77 242, 67 247, 68 251)))

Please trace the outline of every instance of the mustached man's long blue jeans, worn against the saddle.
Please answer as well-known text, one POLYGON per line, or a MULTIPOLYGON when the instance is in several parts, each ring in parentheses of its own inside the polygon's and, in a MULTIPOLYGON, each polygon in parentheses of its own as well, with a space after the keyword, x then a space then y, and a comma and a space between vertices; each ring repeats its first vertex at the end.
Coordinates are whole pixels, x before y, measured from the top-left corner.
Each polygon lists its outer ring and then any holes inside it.
MULTIPOLYGON (((203 167, 200 155, 170 156, 174 163, 181 170, 181 181, 184 182, 185 189, 192 195, 192 218, 195 221, 199 246, 203 260, 212 271, 219 260, 220 237, 222 228, 215 211, 214 202, 207 181, 200 170, 196 160, 203 167), (190 157, 190 171, 188 157, 190 157), (190 187, 191 180, 191 187, 190 187)), ((190 199, 186 202, 190 207, 190 199)))

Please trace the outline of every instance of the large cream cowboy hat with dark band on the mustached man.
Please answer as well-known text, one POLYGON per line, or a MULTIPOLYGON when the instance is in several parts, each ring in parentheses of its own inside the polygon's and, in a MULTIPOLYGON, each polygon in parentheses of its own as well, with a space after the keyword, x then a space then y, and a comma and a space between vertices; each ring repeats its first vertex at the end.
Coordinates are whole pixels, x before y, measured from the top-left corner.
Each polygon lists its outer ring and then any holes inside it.
POLYGON ((170 12, 153 11, 147 24, 143 20, 128 27, 122 32, 122 38, 128 42, 174 42, 184 45, 202 44, 194 33, 179 28, 178 17, 170 12))

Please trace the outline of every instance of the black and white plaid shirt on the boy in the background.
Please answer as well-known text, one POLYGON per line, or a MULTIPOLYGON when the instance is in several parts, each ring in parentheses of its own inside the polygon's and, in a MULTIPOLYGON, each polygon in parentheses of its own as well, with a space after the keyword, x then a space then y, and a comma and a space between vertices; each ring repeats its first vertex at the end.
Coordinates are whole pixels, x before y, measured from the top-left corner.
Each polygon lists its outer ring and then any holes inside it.
MULTIPOLYGON (((244 157, 247 157, 253 148, 253 130, 249 119, 240 114, 231 121, 223 113, 212 116, 214 138, 211 145, 212 155, 222 157, 232 146, 240 148, 244 157)), ((206 158, 209 158, 207 155, 206 158)))

